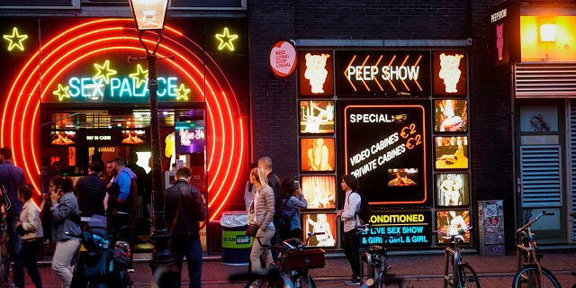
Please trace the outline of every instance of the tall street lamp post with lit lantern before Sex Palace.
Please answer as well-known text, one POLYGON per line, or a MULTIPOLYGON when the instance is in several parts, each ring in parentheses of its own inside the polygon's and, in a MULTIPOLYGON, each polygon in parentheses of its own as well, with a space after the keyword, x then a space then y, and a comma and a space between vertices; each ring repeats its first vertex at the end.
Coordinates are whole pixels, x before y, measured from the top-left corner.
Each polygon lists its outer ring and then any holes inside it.
MULTIPOLYGON (((139 31, 138 39, 146 50, 148 61, 148 97, 150 102, 150 146, 152 153, 152 194, 154 203, 154 229, 152 240, 154 250, 150 267, 152 273, 159 266, 171 266, 174 258, 167 248, 168 232, 166 228, 166 212, 164 210, 164 184, 162 182, 162 158, 160 156, 160 123, 158 120, 158 81, 156 76, 156 50, 162 40, 164 20, 166 18, 168 0, 130 0, 130 8, 136 28, 139 31), (157 34, 157 42, 154 49, 148 49, 142 36, 146 31, 157 34)), ((134 58, 129 58, 129 60, 134 58)))

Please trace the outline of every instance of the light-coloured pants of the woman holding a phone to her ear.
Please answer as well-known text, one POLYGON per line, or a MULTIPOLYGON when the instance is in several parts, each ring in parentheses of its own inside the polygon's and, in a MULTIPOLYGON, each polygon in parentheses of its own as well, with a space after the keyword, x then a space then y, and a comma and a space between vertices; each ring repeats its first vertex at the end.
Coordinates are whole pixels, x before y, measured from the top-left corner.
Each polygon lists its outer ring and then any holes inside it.
POLYGON ((58 276, 62 288, 69 288, 72 282, 72 271, 70 271, 70 261, 80 248, 80 239, 70 239, 56 242, 54 256, 52 256, 52 270, 58 276))

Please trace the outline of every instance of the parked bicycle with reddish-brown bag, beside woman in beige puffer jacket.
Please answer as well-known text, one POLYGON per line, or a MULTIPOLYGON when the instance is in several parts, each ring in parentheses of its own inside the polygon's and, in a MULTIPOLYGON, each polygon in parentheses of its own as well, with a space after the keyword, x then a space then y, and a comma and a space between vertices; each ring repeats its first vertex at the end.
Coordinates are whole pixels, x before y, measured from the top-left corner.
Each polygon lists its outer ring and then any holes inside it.
MULTIPOLYGON (((314 280, 308 273, 310 269, 322 268, 326 265, 324 262, 324 250, 320 248, 307 248, 308 241, 312 236, 323 235, 324 232, 308 232, 306 241, 298 238, 286 239, 282 243, 270 246, 263 245, 260 238, 256 238, 263 249, 275 249, 278 251, 278 257, 275 266, 281 275, 287 275, 294 288, 316 288, 314 280)), ((247 284, 247 287, 251 284, 247 284)), ((286 287, 284 277, 275 277, 271 279, 266 277, 262 279, 258 287, 286 287)))

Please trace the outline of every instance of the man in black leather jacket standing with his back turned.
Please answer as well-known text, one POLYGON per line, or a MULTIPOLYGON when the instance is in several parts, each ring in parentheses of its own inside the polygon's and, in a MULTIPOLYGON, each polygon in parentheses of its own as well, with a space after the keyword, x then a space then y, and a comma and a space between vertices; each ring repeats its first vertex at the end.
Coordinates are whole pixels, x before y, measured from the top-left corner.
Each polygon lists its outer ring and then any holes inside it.
POLYGON ((182 261, 186 257, 190 288, 202 287, 202 244, 199 221, 206 218, 206 205, 202 194, 190 184, 192 170, 182 167, 176 170, 176 182, 166 189, 164 204, 166 226, 170 238, 168 247, 172 252, 178 274, 173 287, 180 287, 182 261))

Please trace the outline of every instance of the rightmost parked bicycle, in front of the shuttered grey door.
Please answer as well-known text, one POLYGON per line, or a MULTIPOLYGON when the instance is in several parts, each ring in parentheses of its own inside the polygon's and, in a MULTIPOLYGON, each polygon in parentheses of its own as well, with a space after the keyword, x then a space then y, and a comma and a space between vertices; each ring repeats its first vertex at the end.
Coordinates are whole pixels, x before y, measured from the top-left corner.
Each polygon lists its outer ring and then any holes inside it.
POLYGON ((532 224, 544 215, 554 215, 554 213, 542 211, 533 220, 529 220, 524 226, 518 228, 517 265, 518 272, 514 276, 512 287, 556 287, 560 288, 560 282, 540 263, 541 255, 538 254, 536 235, 532 233, 532 224), (524 260, 524 261, 523 261, 524 260))

